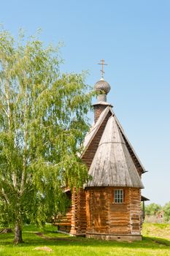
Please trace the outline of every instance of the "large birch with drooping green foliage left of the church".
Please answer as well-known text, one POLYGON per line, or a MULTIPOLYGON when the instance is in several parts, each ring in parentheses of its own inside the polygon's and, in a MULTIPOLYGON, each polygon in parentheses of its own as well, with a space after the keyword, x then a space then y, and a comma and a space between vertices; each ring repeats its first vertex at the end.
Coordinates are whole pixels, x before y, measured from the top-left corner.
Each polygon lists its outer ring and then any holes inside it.
POLYGON ((37 224, 63 211, 62 186, 80 187, 87 167, 78 157, 90 108, 83 75, 59 72, 58 49, 0 31, 0 222, 37 224))

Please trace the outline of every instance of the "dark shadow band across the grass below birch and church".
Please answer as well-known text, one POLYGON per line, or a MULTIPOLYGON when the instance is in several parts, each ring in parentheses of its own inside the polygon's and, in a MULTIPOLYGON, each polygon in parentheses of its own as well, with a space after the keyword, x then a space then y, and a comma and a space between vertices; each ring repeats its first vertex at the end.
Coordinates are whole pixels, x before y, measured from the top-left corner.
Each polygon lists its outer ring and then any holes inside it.
MULTIPOLYGON (((18 244, 20 247, 33 247, 33 246, 93 246, 93 247, 115 247, 115 248, 142 248, 142 249, 168 249, 170 250, 170 241, 163 238, 143 237, 142 241, 117 242, 117 241, 100 241, 89 238, 77 238, 64 236, 55 232, 55 236, 51 236, 52 231, 45 231, 42 236, 37 236, 36 233, 30 231, 23 232, 24 244, 18 244), (49 236, 48 236, 49 234, 49 236)), ((42 233, 41 233, 42 234, 42 233)), ((0 245, 13 246, 14 234, 1 234, 0 245)))

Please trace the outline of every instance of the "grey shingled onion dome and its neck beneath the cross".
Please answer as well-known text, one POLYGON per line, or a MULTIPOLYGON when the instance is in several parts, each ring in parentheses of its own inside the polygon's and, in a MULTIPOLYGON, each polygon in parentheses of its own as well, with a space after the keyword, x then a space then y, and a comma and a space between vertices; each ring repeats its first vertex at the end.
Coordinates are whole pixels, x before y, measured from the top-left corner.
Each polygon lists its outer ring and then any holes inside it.
POLYGON ((107 102, 107 94, 109 93, 111 87, 104 78, 101 78, 98 82, 94 85, 95 91, 101 91, 101 94, 98 94, 98 102, 107 102))

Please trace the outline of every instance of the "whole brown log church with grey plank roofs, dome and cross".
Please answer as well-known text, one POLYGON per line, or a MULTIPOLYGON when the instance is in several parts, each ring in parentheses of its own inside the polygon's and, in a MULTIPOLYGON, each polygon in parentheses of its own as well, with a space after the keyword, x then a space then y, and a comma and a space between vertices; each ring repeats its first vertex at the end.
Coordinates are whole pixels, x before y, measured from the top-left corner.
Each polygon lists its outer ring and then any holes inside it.
POLYGON ((141 195, 145 170, 112 105, 107 103, 110 86, 103 78, 103 65, 101 80, 94 89, 99 93, 93 104, 94 124, 85 137, 82 152, 82 161, 92 178, 78 192, 66 189, 72 206, 56 225, 73 236, 141 240, 141 201, 147 200, 141 195))

